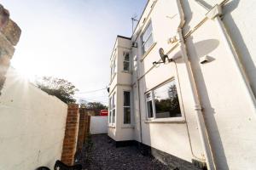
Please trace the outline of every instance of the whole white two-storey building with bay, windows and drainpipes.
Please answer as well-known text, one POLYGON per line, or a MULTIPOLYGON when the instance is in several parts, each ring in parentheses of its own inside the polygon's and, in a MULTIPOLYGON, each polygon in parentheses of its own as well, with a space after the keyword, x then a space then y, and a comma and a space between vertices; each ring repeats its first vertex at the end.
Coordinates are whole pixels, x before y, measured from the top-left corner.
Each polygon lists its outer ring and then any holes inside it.
POLYGON ((148 0, 131 38, 113 47, 108 136, 180 169, 255 169, 254 6, 148 0), (168 59, 155 64, 160 48, 168 59))

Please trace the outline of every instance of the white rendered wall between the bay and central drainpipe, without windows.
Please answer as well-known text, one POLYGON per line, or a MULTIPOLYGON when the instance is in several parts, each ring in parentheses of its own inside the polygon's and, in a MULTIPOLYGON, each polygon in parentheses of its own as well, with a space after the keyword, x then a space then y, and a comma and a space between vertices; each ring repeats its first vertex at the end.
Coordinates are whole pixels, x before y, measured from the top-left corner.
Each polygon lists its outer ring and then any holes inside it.
MULTIPOLYGON (((148 8, 151 6, 150 3, 153 3, 153 1, 148 3, 148 8)), ((148 9, 142 19, 147 18, 147 11, 148 9)), ((177 65, 174 63, 166 63, 165 65, 162 64, 154 67, 152 64, 154 61, 160 59, 159 48, 164 48, 166 52, 172 48, 172 44, 167 43, 167 40, 177 35, 177 26, 179 24, 177 13, 176 1, 159 0, 155 3, 151 14, 148 15, 148 19, 145 20, 144 23, 140 23, 141 31, 144 30, 150 20, 153 27, 155 45, 146 56, 142 56, 141 53, 140 37, 137 37, 137 33, 132 37, 132 41, 138 42, 138 48, 132 48, 132 55, 138 56, 137 67, 139 70, 138 77, 140 77, 140 94, 137 94, 137 82, 133 82, 135 83, 133 93, 136 122, 136 132, 134 136, 138 141, 143 142, 143 144, 148 144, 155 149, 162 150, 183 160, 191 161, 193 158, 202 159, 203 150, 195 120, 195 105, 193 104, 191 89, 188 86, 189 79, 185 64, 182 59, 177 59, 177 65), (160 85, 162 82, 171 79, 175 79, 177 85, 183 121, 172 122, 170 119, 169 122, 148 122, 146 117, 145 93, 160 85), (141 99, 141 111, 139 111, 138 98, 141 99), (142 139, 140 139, 139 132, 139 115, 141 115, 142 122, 142 139)), ((169 57, 178 57, 180 55, 179 48, 176 48, 169 54, 169 57)), ((136 77, 136 73, 133 73, 133 77, 136 77)), ((133 80, 136 80, 136 78, 133 78, 133 80)))

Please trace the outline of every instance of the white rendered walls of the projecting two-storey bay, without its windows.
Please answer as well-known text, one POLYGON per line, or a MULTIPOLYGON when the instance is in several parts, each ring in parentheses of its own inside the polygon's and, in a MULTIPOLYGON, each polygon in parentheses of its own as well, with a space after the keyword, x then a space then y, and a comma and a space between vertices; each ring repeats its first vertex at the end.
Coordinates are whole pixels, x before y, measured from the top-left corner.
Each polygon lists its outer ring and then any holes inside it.
MULTIPOLYGON (((124 91, 130 91, 131 90, 131 71, 124 71, 123 61, 124 56, 123 53, 131 53, 131 40, 124 38, 124 37, 117 37, 116 42, 113 48, 113 54, 116 54, 116 62, 117 62, 117 74, 113 78, 113 81, 109 84, 109 97, 112 97, 115 93, 115 102, 116 102, 116 108, 115 108, 115 123, 114 124, 108 124, 108 136, 110 136, 112 139, 116 141, 122 141, 122 140, 133 140, 133 127, 134 127, 134 121, 133 121, 133 111, 131 109, 131 124, 126 125, 124 124, 124 108, 123 108, 123 96, 124 91)), ((133 56, 130 54, 130 65, 132 65, 132 59, 133 56)), ((113 60, 113 56, 111 57, 111 60, 113 60)), ((131 105, 132 107, 132 105, 131 105)))

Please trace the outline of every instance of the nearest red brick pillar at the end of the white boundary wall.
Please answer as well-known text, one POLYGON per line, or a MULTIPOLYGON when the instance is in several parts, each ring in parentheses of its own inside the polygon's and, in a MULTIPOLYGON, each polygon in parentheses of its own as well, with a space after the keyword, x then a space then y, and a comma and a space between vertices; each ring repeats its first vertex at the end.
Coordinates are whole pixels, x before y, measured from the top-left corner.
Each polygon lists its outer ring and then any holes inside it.
POLYGON ((61 161, 73 165, 79 130, 79 105, 70 104, 67 109, 66 131, 63 141, 61 161))

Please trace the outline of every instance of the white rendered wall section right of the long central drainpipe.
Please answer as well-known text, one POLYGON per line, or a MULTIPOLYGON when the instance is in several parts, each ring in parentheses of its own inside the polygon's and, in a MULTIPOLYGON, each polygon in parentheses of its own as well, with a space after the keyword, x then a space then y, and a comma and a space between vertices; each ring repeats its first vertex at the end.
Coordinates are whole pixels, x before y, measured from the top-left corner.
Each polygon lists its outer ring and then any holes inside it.
MULTIPOLYGON (((213 1, 210 4, 214 4, 213 1)), ((188 8, 185 16, 191 18, 185 26, 189 30, 196 22, 193 15, 196 12, 204 14, 206 11, 195 1, 184 1, 184 5, 188 8), (193 11, 193 14, 189 11, 193 11)), ((246 50, 248 48, 252 53, 255 51, 252 39, 255 31, 251 30, 255 13, 252 5, 251 1, 230 1, 224 7, 223 17, 225 26, 230 29, 231 39, 235 40, 237 52, 243 61, 247 60, 245 67, 250 71, 249 77, 253 85, 256 81, 253 55, 247 54, 246 50), (252 17, 247 14, 252 14, 252 17), (247 41, 243 42, 243 38, 247 41)), ((207 20, 186 43, 217 169, 253 169, 256 166, 256 138, 251 134, 256 129, 255 108, 250 103, 234 56, 221 37, 217 22, 207 20), (204 55, 210 56, 212 60, 201 65, 199 59, 204 55)))

